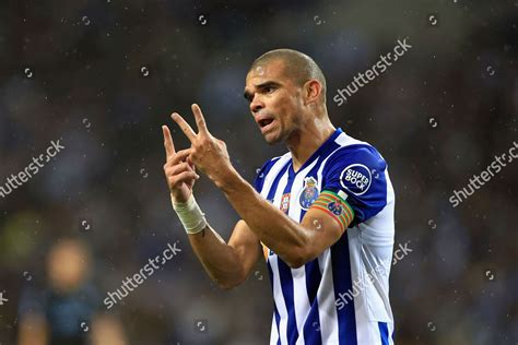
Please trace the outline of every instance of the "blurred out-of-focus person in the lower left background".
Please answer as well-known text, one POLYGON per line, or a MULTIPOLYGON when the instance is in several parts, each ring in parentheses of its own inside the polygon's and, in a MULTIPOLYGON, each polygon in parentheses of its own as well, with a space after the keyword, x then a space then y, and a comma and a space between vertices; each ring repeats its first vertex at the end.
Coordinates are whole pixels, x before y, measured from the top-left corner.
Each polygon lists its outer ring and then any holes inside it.
POLYGON ((47 287, 22 294, 19 345, 127 344, 114 317, 96 314, 99 304, 90 284, 91 257, 81 241, 56 243, 46 265, 47 287))

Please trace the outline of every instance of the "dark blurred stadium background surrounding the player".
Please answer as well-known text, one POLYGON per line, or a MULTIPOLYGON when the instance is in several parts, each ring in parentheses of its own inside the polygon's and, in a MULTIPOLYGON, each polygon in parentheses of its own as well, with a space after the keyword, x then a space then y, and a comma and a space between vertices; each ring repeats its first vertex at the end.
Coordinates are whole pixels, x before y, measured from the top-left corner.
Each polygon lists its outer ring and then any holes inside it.
MULTIPOLYGON (((255 58, 311 56, 335 127, 375 145, 396 190, 397 344, 518 343, 518 163, 459 206, 448 199, 518 142, 518 2, 2 1, 0 343, 267 344, 266 265, 222 292, 170 207, 161 124, 198 103, 252 181, 268 146, 243 98, 255 58), (332 97, 408 37, 412 48, 338 106, 332 97), (107 310, 167 242, 181 249, 107 310)), ((202 177, 197 200, 228 239, 238 219, 202 177)))

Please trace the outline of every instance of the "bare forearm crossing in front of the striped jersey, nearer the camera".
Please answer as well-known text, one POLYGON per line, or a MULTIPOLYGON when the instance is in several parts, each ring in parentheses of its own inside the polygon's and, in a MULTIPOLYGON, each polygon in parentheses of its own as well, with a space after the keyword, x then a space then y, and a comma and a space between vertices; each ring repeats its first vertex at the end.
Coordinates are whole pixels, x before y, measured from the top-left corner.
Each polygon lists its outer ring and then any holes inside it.
POLYGON ((234 168, 216 186, 268 248, 286 262, 298 261, 310 241, 307 229, 266 201, 234 168))

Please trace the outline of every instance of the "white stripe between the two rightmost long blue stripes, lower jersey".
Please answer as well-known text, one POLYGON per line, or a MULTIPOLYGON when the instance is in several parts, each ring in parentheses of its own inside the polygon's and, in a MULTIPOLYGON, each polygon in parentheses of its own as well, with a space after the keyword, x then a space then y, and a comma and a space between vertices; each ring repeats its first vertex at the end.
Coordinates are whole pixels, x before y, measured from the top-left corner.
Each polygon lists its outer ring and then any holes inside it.
POLYGON ((326 249, 318 257, 318 264, 323 267, 322 281, 317 292, 320 335, 322 344, 338 344, 338 314, 332 284, 331 249, 326 249))

